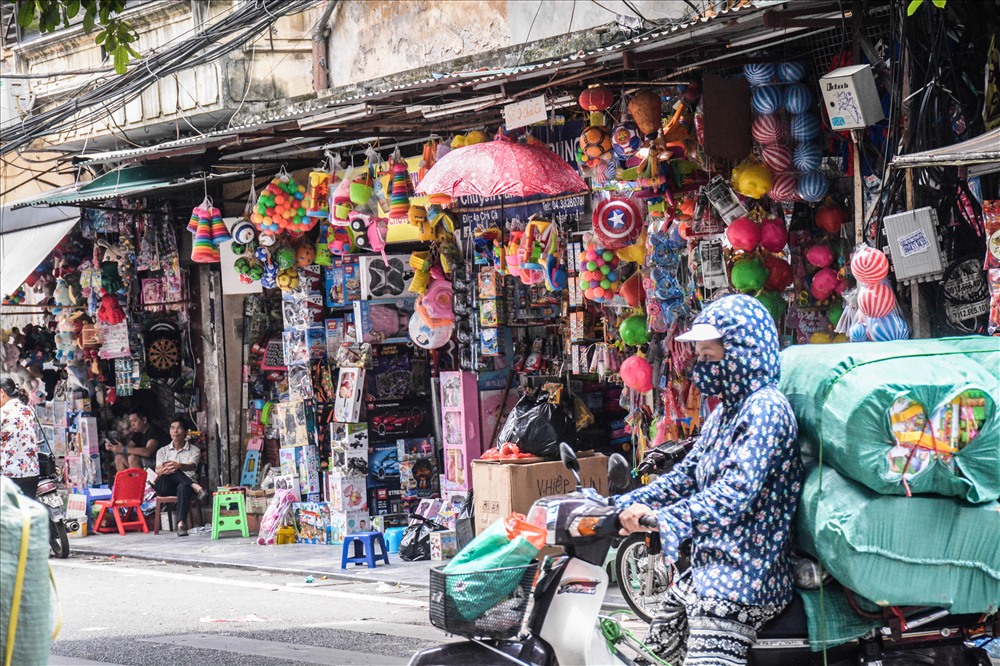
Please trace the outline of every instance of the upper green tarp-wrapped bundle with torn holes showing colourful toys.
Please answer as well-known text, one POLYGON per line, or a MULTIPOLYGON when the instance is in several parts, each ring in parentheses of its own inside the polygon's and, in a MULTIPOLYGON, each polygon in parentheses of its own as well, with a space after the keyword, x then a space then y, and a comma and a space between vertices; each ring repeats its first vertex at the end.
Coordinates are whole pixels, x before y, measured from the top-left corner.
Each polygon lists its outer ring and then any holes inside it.
POLYGON ((798 419, 807 461, 821 460, 887 495, 1000 498, 997 338, 799 345, 781 353, 781 390, 798 419), (958 396, 974 399, 982 421, 975 435, 951 450, 914 446, 915 439, 933 443, 959 432, 966 408, 947 411, 958 396), (897 409, 900 418, 917 414, 919 432, 894 432, 890 412, 897 409))

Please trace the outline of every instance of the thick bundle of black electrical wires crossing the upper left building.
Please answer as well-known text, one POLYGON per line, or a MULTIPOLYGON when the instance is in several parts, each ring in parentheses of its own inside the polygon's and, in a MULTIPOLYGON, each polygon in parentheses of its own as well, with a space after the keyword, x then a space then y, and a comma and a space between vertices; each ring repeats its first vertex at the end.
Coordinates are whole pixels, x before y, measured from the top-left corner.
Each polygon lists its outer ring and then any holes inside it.
POLYGON ((214 62, 242 47, 271 28, 282 16, 308 9, 313 0, 254 0, 232 11, 218 23, 183 40, 162 53, 153 53, 129 66, 128 72, 95 85, 88 84, 79 95, 51 109, 24 119, 4 131, 0 155, 27 147, 44 136, 91 124, 91 114, 100 107, 110 115, 142 94, 157 80, 177 72, 214 62))

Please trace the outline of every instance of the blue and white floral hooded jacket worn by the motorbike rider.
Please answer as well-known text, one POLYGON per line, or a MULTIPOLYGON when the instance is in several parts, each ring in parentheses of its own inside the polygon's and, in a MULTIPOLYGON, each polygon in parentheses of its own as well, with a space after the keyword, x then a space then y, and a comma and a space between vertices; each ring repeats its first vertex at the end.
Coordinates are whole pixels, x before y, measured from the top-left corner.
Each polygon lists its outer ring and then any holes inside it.
POLYGON ((621 495, 656 510, 663 552, 692 542, 699 596, 752 606, 792 598, 791 527, 802 482, 798 427, 778 390, 778 334, 749 296, 726 296, 695 319, 722 333, 722 403, 668 474, 621 495))

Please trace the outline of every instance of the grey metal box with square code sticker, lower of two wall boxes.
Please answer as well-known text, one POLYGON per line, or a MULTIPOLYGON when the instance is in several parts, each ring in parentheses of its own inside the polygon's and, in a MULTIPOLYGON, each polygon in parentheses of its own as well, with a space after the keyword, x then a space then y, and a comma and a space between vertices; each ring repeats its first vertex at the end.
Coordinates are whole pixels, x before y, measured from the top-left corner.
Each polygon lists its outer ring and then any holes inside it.
POLYGON ((937 222, 937 213, 930 207, 886 215, 883 219, 898 281, 928 282, 944 274, 937 222))

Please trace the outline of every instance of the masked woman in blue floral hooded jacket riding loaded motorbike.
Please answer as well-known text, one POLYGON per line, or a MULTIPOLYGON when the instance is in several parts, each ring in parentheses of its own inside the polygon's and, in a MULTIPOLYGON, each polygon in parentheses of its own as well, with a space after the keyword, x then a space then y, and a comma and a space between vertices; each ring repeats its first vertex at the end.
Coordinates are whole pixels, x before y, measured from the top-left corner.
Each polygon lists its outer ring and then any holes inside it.
POLYGON ((663 555, 691 540, 690 574, 661 602, 647 645, 685 666, 746 663, 760 627, 792 599, 791 526, 802 466, 795 416, 778 391, 778 334, 749 296, 709 305, 691 330, 691 379, 722 403, 670 473, 616 499, 622 534, 658 519, 663 555))

